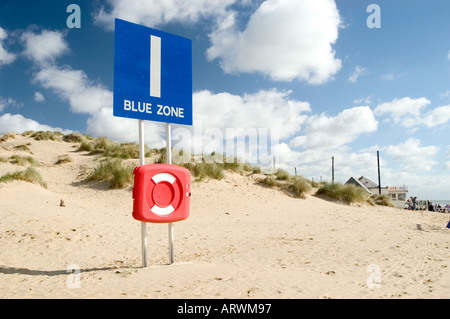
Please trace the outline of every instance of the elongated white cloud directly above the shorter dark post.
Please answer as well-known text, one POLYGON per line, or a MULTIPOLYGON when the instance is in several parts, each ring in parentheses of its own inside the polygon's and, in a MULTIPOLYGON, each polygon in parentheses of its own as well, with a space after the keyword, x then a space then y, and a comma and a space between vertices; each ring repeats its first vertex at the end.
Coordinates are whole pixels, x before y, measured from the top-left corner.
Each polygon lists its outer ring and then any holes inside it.
POLYGON ((305 149, 336 149, 354 141, 364 133, 375 132, 378 127, 368 106, 345 109, 335 117, 321 114, 308 119, 304 136, 294 138, 290 145, 305 149))

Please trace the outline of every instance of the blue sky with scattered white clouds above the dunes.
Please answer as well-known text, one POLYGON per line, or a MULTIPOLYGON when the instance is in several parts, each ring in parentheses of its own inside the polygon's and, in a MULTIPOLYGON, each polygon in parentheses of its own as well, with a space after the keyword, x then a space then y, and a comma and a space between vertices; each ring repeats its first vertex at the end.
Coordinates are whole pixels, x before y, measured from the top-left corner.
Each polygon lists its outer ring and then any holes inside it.
MULTIPOLYGON (((192 135, 194 152, 226 151, 213 142, 234 140, 227 128, 277 129, 271 146, 291 173, 330 180, 334 156, 337 181, 376 182, 379 151, 382 186, 447 199, 448 12, 440 0, 2 0, 0 134, 137 142, 137 121, 112 115, 121 18, 192 40, 194 126, 173 129, 192 135), (81 28, 67 26, 72 3, 81 28)), ((164 129, 146 122, 146 143, 164 146, 164 129)), ((179 134, 172 143, 186 145, 179 134)))

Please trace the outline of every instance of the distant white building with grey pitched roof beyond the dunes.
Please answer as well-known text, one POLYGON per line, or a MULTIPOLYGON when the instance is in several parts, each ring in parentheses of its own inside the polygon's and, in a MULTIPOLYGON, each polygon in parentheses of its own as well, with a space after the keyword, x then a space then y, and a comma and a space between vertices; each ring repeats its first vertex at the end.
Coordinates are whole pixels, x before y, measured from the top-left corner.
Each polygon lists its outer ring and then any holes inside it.
POLYGON ((353 184, 365 189, 370 195, 377 195, 381 189, 381 195, 389 195, 397 208, 404 208, 408 194, 408 186, 385 186, 379 188, 377 184, 367 177, 361 176, 358 179, 350 177, 345 184, 353 184))

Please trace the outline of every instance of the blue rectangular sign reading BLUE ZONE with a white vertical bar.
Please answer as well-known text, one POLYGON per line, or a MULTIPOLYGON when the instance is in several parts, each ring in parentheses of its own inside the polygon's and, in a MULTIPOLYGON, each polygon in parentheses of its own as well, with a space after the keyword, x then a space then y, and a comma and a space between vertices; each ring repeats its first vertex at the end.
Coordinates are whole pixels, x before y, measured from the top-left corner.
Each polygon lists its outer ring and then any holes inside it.
POLYGON ((192 125, 192 44, 115 20, 114 116, 192 125))

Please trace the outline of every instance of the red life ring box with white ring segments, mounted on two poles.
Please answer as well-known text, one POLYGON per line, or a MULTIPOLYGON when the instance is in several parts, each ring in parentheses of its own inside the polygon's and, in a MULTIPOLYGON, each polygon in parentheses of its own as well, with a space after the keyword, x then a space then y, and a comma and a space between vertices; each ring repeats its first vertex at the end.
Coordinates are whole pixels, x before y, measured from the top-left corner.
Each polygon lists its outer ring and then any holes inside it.
POLYGON ((134 169, 133 218, 172 223, 189 217, 191 173, 172 164, 148 164, 134 169))

